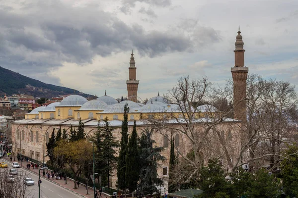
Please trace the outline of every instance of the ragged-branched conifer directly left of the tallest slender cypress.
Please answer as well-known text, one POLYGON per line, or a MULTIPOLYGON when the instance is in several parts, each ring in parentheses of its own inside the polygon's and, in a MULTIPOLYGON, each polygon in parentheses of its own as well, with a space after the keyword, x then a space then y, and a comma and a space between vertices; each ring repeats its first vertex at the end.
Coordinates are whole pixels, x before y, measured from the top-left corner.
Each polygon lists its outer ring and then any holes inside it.
POLYGON ((115 148, 118 147, 118 142, 113 137, 113 128, 110 127, 108 118, 103 120, 103 126, 100 126, 100 134, 102 140, 102 156, 101 160, 103 162, 103 170, 106 173, 108 188, 110 188, 110 176, 112 176, 113 171, 117 165, 117 157, 115 148))

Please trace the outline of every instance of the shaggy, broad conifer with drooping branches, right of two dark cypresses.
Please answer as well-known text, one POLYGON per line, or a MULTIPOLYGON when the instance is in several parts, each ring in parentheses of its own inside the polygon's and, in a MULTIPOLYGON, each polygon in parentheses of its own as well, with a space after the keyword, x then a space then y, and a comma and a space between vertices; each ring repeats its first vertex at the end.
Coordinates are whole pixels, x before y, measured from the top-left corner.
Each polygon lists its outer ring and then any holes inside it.
POLYGON ((158 161, 164 161, 165 157, 160 154, 163 147, 153 147, 155 143, 151 139, 153 129, 145 129, 140 140, 140 184, 138 193, 152 195, 154 192, 160 194, 157 186, 163 186, 163 181, 158 178, 158 161))

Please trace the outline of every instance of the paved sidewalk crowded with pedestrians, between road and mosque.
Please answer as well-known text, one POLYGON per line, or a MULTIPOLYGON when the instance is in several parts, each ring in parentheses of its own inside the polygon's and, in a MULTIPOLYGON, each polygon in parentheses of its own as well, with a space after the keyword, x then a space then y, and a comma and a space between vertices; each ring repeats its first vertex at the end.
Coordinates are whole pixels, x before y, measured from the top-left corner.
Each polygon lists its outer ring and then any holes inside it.
MULTIPOLYGON (((16 157, 15 157, 16 158, 16 157)), ((12 161, 10 161, 10 159, 8 157, 2 157, 2 159, 6 160, 8 163, 12 163, 12 162, 18 162, 17 160, 13 160, 13 157, 12 157, 12 161)), ((29 161, 28 161, 29 163, 29 161)), ((25 160, 22 161, 22 168, 26 169, 26 165, 28 164, 25 160)), ((31 163, 31 162, 30 162, 31 163)), ((20 163, 19 163, 20 164, 20 163)), ((33 173, 33 174, 36 174, 38 175, 38 169, 33 169, 32 167, 30 167, 30 169, 27 169, 27 171, 33 173)), ((47 172, 47 170, 45 170, 47 172)), ((88 195, 87 194, 87 190, 85 188, 85 184, 79 184, 79 187, 77 189, 74 189, 74 180, 71 179, 71 178, 68 178, 67 177, 67 184, 65 184, 65 181, 64 179, 61 179, 61 180, 56 180, 56 179, 47 179, 46 177, 43 177, 42 175, 42 171, 40 173, 40 178, 42 179, 46 179, 52 183, 55 183, 65 189, 68 189, 69 191, 77 194, 77 195, 80 195, 82 196, 83 198, 94 198, 94 194, 93 194, 93 189, 92 188, 88 188, 88 195)))

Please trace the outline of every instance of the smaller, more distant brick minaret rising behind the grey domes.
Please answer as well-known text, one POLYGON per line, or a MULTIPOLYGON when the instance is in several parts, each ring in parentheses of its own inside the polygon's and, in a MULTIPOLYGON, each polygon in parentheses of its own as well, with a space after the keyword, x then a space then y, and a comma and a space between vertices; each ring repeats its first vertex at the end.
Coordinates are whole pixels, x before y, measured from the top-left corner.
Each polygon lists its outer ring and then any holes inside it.
POLYGON ((127 97, 129 100, 137 102, 138 100, 138 85, 139 81, 136 80, 137 78, 137 67, 135 62, 134 53, 132 50, 131 60, 129 62, 129 80, 126 81, 127 84, 127 97))

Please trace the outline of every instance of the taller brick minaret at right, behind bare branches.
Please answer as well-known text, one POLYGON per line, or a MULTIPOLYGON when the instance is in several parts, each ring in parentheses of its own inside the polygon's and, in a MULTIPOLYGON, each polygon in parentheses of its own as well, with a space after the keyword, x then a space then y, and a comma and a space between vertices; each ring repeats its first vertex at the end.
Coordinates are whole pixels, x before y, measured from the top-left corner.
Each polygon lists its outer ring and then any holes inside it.
POLYGON ((243 41, 238 29, 235 42, 235 66, 231 68, 234 89, 234 119, 246 122, 246 79, 248 67, 244 67, 243 41))

